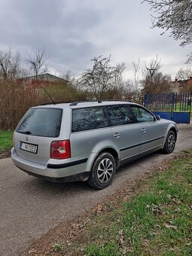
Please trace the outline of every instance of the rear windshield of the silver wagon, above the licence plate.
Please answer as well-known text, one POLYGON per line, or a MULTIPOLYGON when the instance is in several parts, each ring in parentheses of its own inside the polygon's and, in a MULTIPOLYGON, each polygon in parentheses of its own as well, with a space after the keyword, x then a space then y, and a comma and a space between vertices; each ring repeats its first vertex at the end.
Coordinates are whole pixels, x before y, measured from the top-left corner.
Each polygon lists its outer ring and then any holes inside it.
POLYGON ((60 133, 61 120, 60 108, 30 108, 17 125, 16 132, 56 138, 60 133))

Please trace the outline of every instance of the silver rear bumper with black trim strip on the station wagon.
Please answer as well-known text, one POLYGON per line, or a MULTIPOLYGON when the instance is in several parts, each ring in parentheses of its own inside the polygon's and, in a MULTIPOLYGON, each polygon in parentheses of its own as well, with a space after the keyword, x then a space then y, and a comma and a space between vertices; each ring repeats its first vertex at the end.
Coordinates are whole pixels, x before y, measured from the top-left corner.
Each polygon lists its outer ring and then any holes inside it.
POLYGON ((86 181, 90 170, 87 169, 87 156, 77 159, 50 160, 47 165, 25 160, 17 155, 14 148, 11 150, 11 158, 14 164, 23 172, 39 178, 55 182, 86 181))

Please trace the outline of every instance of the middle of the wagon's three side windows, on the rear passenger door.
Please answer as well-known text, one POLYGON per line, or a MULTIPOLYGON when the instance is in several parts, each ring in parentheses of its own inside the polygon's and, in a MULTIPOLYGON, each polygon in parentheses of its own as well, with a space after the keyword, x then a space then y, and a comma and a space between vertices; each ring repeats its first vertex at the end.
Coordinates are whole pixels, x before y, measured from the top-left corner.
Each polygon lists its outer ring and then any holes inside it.
POLYGON ((110 105, 106 107, 112 126, 134 123, 134 117, 125 105, 110 105))

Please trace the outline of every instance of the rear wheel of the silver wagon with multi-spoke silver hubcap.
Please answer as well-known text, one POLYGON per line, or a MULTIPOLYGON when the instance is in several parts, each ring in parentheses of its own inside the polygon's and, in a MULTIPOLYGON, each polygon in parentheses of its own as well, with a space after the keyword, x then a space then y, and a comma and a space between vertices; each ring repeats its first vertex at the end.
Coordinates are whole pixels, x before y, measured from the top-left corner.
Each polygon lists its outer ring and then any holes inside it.
POLYGON ((114 157, 111 154, 108 152, 99 154, 90 171, 88 184, 97 189, 108 187, 114 179, 116 168, 114 157))

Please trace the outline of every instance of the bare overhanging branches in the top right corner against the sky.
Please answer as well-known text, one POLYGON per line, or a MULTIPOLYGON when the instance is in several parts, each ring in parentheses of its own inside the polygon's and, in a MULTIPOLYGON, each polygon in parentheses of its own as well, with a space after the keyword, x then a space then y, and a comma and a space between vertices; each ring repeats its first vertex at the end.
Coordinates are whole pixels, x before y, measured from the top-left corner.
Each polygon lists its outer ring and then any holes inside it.
MULTIPOLYGON (((148 2, 151 5, 151 11, 154 11, 153 28, 163 29, 163 33, 169 30, 175 40, 181 40, 181 46, 192 43, 192 0, 144 0, 142 2, 148 2)), ((187 61, 191 60, 192 53, 188 55, 187 61)))

